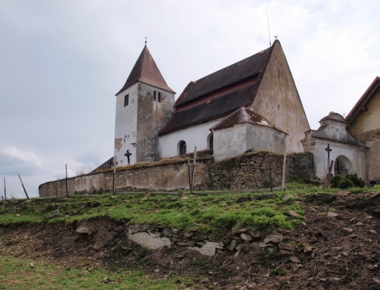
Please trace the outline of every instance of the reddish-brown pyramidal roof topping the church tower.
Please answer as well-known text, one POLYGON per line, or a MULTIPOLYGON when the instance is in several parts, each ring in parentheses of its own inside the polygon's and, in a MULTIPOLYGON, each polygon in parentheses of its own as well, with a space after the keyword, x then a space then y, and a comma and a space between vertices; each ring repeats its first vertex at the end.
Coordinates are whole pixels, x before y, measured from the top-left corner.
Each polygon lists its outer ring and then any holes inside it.
MULTIPOLYGON (((132 71, 130 72, 123 88, 121 88, 118 93, 120 93, 122 90, 125 90, 125 88, 132 86, 133 83, 137 83, 138 81, 175 93, 174 90, 169 88, 169 86, 166 84, 163 75, 160 73, 158 66, 155 64, 152 55, 148 51, 146 44, 143 48, 143 51, 141 51, 140 56, 135 63, 135 66, 133 66, 132 71)), ((118 93, 116 93, 116 95, 118 93)))

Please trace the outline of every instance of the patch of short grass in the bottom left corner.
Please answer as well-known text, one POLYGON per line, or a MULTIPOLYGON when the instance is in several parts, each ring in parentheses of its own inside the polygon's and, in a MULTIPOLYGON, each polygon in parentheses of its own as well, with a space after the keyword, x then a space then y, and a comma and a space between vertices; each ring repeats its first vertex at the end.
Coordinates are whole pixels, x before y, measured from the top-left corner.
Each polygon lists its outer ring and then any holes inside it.
POLYGON ((193 283, 180 276, 128 269, 62 269, 48 261, 35 261, 31 268, 25 259, 1 257, 0 260, 0 289, 185 289, 197 287, 193 283))

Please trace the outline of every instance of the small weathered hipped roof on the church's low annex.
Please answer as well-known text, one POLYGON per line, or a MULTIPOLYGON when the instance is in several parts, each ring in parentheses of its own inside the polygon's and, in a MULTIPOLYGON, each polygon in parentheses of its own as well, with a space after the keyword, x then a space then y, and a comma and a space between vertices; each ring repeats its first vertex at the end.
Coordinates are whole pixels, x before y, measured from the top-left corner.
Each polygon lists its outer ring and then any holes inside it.
POLYGON ((262 126, 268 126, 285 133, 283 130, 278 128, 272 122, 262 117, 262 115, 259 115, 252 110, 248 110, 245 107, 238 108, 237 110, 235 110, 234 113, 232 113, 231 115, 228 115, 226 118, 221 120, 219 123, 217 123, 217 125, 212 127, 210 130, 222 130, 225 128, 232 127, 233 125, 242 124, 242 123, 251 123, 251 124, 257 124, 257 125, 262 125, 262 126))

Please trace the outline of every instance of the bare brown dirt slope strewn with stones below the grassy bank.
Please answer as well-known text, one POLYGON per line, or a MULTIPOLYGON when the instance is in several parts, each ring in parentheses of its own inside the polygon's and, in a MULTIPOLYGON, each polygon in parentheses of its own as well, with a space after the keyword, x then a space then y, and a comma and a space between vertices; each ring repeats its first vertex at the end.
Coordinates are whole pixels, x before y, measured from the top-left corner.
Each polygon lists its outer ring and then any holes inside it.
POLYGON ((380 195, 337 192, 300 204, 306 208, 302 224, 293 232, 277 229, 290 253, 250 244, 239 252, 218 250, 215 257, 175 247, 150 251, 126 238, 123 221, 102 218, 0 227, 0 254, 53 259, 65 268, 127 267, 197 282, 202 277, 205 289, 380 289, 380 195))

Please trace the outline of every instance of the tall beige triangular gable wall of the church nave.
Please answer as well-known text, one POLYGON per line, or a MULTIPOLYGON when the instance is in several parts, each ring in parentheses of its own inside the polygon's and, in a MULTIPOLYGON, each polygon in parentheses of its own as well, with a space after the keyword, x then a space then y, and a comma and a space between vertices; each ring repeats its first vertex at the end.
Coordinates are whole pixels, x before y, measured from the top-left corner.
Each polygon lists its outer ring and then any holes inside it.
POLYGON ((279 42, 273 48, 252 110, 289 134, 287 152, 303 152, 301 140, 310 126, 279 42))

